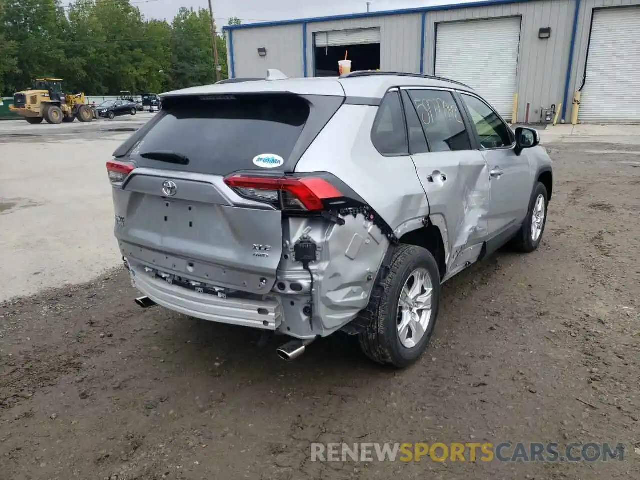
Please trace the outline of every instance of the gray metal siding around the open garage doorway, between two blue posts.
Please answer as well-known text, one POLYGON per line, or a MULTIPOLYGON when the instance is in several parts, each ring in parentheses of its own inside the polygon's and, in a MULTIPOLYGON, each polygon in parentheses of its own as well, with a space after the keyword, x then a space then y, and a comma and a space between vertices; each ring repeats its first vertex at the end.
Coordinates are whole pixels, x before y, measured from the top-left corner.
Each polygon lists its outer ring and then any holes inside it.
MULTIPOLYGON (((420 13, 307 24, 307 75, 315 73, 314 33, 356 28, 380 28, 380 70, 420 72, 420 13)), ((235 41, 235 38, 234 38, 235 41)))

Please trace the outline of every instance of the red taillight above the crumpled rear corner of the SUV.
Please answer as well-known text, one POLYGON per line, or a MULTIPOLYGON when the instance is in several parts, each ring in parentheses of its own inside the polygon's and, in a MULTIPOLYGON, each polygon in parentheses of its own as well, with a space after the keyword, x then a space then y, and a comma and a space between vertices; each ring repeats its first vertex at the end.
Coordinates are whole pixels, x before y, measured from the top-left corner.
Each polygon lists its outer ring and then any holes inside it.
POLYGON ((337 188, 319 177, 253 177, 239 173, 227 177, 225 183, 245 198, 284 210, 323 210, 323 200, 342 197, 337 188))

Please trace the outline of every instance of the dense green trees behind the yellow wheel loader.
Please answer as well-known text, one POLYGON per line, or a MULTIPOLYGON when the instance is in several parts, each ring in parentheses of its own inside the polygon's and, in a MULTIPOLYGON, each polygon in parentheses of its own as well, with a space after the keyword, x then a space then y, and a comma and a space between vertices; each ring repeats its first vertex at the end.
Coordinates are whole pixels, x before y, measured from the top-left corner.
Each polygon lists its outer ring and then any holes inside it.
MULTIPOLYGON (((232 19, 234 24, 240 20, 232 19)), ((0 90, 62 77, 67 92, 163 92, 215 81, 209 10, 147 20, 129 0, 0 0, 0 90)), ((227 44, 216 37, 223 78, 227 44)))

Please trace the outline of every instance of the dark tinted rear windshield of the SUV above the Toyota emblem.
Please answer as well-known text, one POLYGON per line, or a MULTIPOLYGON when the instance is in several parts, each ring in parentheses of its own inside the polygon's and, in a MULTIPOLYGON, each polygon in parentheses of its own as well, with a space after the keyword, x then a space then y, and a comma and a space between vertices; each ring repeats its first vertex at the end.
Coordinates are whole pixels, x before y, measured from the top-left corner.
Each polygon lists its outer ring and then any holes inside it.
POLYGON ((163 101, 161 118, 129 157, 139 166, 214 175, 262 170, 264 163, 253 163, 258 156, 282 157, 286 166, 309 113, 307 100, 289 94, 173 97, 163 101), (153 152, 172 152, 189 163, 150 159, 153 152))

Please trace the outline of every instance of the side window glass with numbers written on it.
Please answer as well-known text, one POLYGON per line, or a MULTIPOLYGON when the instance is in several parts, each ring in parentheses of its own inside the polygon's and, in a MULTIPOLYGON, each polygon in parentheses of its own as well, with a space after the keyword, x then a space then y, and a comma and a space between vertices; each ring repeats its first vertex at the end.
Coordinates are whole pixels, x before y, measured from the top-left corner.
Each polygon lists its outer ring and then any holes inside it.
POLYGON ((409 95, 420 117, 431 152, 471 150, 471 140, 451 92, 411 90, 409 95))

